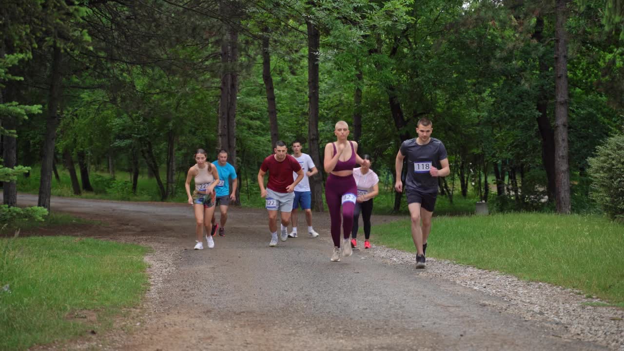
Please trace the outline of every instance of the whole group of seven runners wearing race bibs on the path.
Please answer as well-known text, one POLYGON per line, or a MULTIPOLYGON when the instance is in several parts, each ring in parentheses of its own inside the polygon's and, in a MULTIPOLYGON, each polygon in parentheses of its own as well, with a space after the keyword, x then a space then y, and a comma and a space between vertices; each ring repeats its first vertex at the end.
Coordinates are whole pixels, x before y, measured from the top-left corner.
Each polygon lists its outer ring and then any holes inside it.
MULTIPOLYGON (((447 152, 441 141, 431 137, 433 126, 428 119, 417 123, 417 137, 402 142, 396 156, 395 171, 397 192, 407 194, 407 207, 411 217, 411 234, 416 246, 416 268, 425 267, 427 239, 431 232, 431 217, 436 204, 438 189, 437 177, 450 173, 447 152), (407 159, 407 160, 406 160, 407 159), (406 182, 401 174, 404 161, 407 161, 406 182), (421 224, 422 222, 422 224, 421 224)), ((362 214, 364 223, 364 249, 369 249, 371 232, 371 214, 373 198, 379 194, 379 177, 371 169, 371 157, 358 155, 358 143, 349 141, 349 126, 344 121, 336 123, 335 142, 325 146, 323 167, 328 177, 325 183, 325 200, 329 209, 333 252, 330 260, 339 262, 341 257, 349 257, 357 245, 358 221, 362 214), (356 164, 361 167, 356 168, 356 164), (342 230, 342 236, 341 236, 342 230)), ((268 226, 271 233, 270 247, 278 245, 278 237, 286 241, 288 237, 298 237, 298 209, 305 212, 308 235, 318 237, 312 226, 311 191, 309 178, 318 173, 308 154, 301 152, 301 142, 292 144, 293 155, 288 154, 285 142, 276 142, 274 154, 267 156, 258 171, 258 186, 261 197, 265 198, 268 212, 268 226), (268 183, 264 177, 269 174, 268 183), (280 212, 280 235, 278 235, 278 212, 280 212), (288 233, 288 225, 292 230, 288 233)), ((188 170, 186 189, 188 203, 195 207, 197 221, 195 249, 203 249, 203 227, 206 228, 208 248, 214 247, 212 235, 217 232, 214 224, 214 206, 219 199, 221 210, 220 235, 225 235, 227 205, 235 200, 236 173, 227 163, 227 152, 220 151, 218 161, 206 164, 206 154, 198 150, 195 164, 188 170), (190 180, 195 177, 195 191, 190 192, 190 180), (233 180, 232 194, 227 187, 228 180, 233 180), (213 194, 213 189, 217 189, 213 194), (212 194, 212 197, 211 197, 212 194), (228 197, 229 196, 229 197, 228 197), (224 200, 225 199, 225 200, 224 200), (208 219, 212 219, 211 225, 208 219), (212 235, 211 235, 212 234, 212 235)))

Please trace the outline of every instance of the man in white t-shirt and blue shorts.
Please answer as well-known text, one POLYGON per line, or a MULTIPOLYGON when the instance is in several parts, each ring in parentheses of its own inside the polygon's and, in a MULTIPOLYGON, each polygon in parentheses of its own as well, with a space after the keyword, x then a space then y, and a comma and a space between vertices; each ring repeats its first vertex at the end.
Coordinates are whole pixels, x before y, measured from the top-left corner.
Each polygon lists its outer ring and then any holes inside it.
MULTIPOLYGON (((301 152, 301 142, 293 142, 293 157, 301 165, 303 169, 303 179, 295 187, 295 200, 293 201, 293 212, 291 212, 291 223, 293 224, 293 231, 288 234, 288 237, 297 237, 297 209, 301 206, 301 209, 306 212, 306 222, 308 222, 308 234, 310 237, 318 237, 318 233, 314 231, 312 227, 312 209, 311 200, 312 195, 310 192, 310 177, 318 173, 318 169, 314 166, 310 155, 301 152)), ((293 179, 297 177, 297 174, 293 172, 293 179)), ((282 228, 285 229, 285 228, 282 228)))

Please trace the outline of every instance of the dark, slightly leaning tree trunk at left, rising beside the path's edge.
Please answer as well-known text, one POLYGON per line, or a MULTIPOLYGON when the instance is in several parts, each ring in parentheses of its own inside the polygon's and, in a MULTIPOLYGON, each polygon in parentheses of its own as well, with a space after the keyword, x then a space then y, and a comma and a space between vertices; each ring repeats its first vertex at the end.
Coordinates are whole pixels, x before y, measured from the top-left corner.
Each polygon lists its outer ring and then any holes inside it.
POLYGON ((39 200, 37 205, 50 211, 50 196, 52 194, 52 159, 54 159, 54 142, 56 141, 56 127, 60 116, 57 113, 61 100, 61 47, 56 42, 52 47, 52 67, 50 73, 50 91, 47 99, 46 137, 44 139, 43 158, 41 160, 41 180, 39 181, 39 200))

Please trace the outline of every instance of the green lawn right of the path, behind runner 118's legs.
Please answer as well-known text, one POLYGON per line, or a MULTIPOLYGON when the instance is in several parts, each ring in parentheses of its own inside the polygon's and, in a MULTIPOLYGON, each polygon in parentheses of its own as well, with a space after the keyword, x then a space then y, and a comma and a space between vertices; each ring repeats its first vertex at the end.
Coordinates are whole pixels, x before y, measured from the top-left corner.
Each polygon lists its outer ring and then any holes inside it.
MULTIPOLYGON (((415 252, 409 220, 373 227, 379 244, 415 252)), ((624 225, 597 215, 436 217, 427 255, 582 290, 624 307, 624 225)))

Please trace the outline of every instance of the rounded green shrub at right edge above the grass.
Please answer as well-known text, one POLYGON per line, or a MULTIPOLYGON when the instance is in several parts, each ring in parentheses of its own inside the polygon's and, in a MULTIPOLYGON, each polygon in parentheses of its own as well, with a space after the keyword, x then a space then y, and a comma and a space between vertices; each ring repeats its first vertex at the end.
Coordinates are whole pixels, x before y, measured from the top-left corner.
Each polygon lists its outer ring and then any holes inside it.
POLYGON ((607 139, 590 157, 594 199, 611 219, 624 220, 624 134, 607 139))

